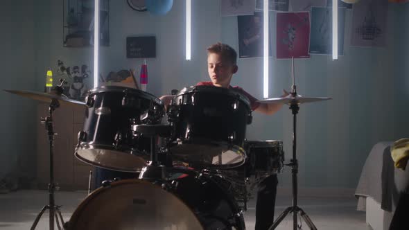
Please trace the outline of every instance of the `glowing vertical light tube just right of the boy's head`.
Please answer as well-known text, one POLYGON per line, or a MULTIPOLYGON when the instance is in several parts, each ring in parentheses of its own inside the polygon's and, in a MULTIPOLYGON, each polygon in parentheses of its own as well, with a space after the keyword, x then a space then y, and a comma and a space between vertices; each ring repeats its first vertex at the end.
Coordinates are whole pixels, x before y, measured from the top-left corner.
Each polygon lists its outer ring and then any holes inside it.
POLYGON ((268 0, 263 1, 263 97, 268 98, 268 0))

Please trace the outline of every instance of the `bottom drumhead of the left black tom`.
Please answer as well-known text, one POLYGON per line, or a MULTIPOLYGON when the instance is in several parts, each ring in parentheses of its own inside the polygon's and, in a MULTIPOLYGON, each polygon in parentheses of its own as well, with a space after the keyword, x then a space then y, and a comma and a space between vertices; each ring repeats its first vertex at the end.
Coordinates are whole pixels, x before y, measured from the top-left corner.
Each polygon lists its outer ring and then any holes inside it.
POLYGON ((140 172, 146 166, 146 161, 149 160, 148 154, 144 155, 139 151, 131 154, 103 145, 81 146, 77 148, 75 155, 81 161, 93 166, 123 172, 140 172))

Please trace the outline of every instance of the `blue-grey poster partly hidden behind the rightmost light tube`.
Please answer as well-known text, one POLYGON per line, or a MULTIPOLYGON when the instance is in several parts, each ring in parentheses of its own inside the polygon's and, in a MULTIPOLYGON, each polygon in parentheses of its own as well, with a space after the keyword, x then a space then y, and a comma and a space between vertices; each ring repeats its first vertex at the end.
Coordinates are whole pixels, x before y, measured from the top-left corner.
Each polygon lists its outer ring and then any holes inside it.
MULTIPOLYGON (((344 54, 345 10, 338 8, 338 55, 344 54)), ((310 54, 332 55, 332 8, 311 10, 310 54)))

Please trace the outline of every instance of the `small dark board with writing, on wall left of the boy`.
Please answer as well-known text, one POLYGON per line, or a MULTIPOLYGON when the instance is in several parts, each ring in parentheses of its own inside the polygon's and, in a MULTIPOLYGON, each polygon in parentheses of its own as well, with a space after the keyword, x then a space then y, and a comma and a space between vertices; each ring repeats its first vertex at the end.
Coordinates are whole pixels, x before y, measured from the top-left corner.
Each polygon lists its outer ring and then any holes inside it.
POLYGON ((156 57, 156 37, 127 37, 126 38, 127 58, 147 58, 156 57))

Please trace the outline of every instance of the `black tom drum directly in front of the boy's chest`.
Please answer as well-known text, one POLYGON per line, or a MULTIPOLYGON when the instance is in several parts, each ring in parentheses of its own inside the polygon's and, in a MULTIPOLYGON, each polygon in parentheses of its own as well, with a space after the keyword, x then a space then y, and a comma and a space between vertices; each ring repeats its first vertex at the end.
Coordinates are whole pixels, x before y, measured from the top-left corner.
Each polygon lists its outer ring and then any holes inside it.
POLYGON ((173 126, 171 154, 196 167, 241 166, 245 161, 245 130, 251 123, 251 112, 248 98, 233 89, 184 88, 168 109, 173 126))

